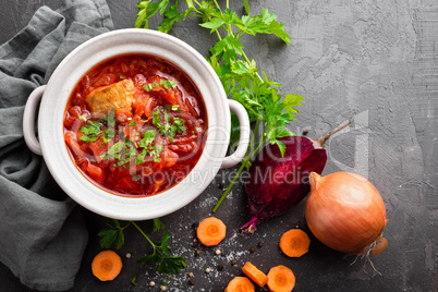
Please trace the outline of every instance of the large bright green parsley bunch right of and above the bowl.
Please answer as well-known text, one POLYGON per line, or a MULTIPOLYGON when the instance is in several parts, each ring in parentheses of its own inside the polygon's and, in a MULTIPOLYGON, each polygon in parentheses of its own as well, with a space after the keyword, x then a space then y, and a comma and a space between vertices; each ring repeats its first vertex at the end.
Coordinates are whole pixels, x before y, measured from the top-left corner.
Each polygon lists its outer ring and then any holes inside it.
MULTIPOLYGON (((260 76, 256 62, 243 50, 241 38, 245 35, 271 34, 291 45, 291 37, 284 31, 284 25, 278 22, 277 15, 268 9, 263 9, 261 14, 252 15, 247 0, 243 1, 245 15, 241 16, 230 10, 229 0, 226 1, 224 9, 216 0, 186 0, 182 12, 180 2, 177 0, 169 7, 169 0, 139 1, 135 27, 148 28, 148 20, 157 12, 163 14, 163 21, 157 27, 163 33, 168 33, 175 22, 184 21, 187 16, 199 17, 199 25, 218 37, 207 60, 222 82, 227 95, 245 107, 254 133, 241 167, 212 210, 216 211, 241 172, 250 169, 251 159, 266 143, 278 145, 284 155, 285 145, 279 138, 294 135, 287 125, 294 120, 296 107, 301 105, 303 97, 296 94, 282 97, 279 93, 281 84, 269 80, 265 71, 260 76), (261 131, 260 138, 256 138, 257 131, 261 131)), ((235 117, 232 119, 232 129, 239 129, 235 117)), ((238 141, 238 136, 239 131, 233 131, 231 146, 238 141)))

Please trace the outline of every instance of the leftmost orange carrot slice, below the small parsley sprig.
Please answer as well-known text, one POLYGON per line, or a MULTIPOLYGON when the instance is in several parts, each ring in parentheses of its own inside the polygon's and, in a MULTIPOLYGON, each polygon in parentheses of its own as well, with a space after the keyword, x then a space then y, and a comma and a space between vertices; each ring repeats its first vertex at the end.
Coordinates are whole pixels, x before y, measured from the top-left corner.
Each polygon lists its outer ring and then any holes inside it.
POLYGON ((122 270, 122 259, 113 251, 98 253, 92 263, 93 275, 100 281, 112 281, 122 270))

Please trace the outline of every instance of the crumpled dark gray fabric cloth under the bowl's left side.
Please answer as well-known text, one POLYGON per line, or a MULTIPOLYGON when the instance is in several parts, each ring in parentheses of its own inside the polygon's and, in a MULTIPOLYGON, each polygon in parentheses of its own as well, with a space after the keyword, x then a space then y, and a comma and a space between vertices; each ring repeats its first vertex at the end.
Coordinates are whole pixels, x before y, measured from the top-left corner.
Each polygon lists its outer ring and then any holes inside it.
POLYGON ((0 46, 0 260, 33 289, 72 288, 88 233, 81 208, 26 147, 24 105, 70 51, 112 28, 105 0, 65 0, 0 46))

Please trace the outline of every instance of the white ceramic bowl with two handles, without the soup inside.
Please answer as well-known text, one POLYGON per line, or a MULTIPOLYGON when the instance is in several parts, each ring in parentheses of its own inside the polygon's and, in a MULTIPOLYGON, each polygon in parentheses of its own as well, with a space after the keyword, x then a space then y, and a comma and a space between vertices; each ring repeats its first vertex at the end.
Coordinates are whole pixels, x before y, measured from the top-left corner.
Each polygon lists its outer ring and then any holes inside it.
POLYGON ((245 109, 239 102, 227 99, 215 71, 191 46, 155 31, 120 29, 77 47, 59 64, 47 86, 34 90, 26 104, 23 131, 31 150, 44 156, 54 180, 80 205, 109 218, 146 220, 187 205, 208 186, 221 167, 239 163, 248 144, 250 122, 245 109), (156 56, 180 68, 199 89, 207 111, 207 141, 195 168, 175 186, 149 197, 118 196, 89 182, 72 161, 63 137, 65 106, 78 80, 97 63, 126 53, 156 56), (41 96, 36 138, 34 119, 41 96), (241 141, 234 154, 226 157, 231 127, 230 109, 241 122, 241 141))

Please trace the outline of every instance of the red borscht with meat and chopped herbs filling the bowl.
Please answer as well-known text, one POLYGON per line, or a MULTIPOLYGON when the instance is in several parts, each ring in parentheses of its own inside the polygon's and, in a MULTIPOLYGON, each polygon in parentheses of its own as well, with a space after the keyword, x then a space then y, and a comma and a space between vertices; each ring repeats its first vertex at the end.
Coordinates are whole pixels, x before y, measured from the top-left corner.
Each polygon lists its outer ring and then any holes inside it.
POLYGON ((127 54, 89 70, 64 113, 64 139, 77 168, 124 196, 163 192, 194 168, 207 135, 204 101, 173 64, 127 54))

